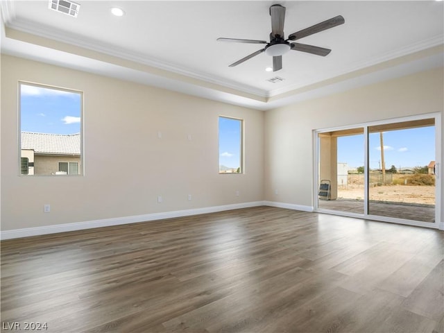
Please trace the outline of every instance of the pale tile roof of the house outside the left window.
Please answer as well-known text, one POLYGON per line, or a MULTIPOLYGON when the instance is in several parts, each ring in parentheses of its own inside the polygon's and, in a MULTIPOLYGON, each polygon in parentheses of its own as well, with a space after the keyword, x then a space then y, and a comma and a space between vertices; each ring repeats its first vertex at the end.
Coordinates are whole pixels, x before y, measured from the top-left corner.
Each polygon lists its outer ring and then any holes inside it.
POLYGON ((33 149, 36 154, 80 155, 80 133, 22 132, 22 149, 33 149))

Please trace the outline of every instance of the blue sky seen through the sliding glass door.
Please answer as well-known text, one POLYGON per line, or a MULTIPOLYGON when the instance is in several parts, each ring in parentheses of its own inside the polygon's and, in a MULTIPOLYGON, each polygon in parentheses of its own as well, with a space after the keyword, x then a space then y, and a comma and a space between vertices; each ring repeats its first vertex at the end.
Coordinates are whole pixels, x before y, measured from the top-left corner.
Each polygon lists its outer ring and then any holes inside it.
MULTIPOLYGON (((435 160, 434 126, 389 130, 384 132, 384 160, 386 169, 424 167, 435 160)), ((381 144, 379 132, 369 135, 370 169, 379 169, 381 144)), ((347 162, 349 167, 364 166, 364 135, 338 138, 338 162, 347 162)))

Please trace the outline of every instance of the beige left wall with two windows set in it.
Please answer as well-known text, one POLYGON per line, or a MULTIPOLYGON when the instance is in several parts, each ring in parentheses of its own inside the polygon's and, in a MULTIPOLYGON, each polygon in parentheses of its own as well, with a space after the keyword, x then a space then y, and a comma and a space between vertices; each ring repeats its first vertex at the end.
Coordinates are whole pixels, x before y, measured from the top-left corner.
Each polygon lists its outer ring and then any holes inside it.
POLYGON ((264 112, 2 55, 1 230, 262 200, 263 133, 264 112), (18 176, 18 80, 84 92, 85 176, 18 176), (245 120, 245 174, 219 175, 219 115, 245 120))

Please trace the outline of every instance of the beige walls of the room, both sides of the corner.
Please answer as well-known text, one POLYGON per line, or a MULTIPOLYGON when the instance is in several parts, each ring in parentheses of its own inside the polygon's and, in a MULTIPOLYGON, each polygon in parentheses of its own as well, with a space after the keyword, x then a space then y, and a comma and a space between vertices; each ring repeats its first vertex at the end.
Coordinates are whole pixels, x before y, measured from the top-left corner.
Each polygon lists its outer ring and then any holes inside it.
POLYGON ((444 104, 442 68, 260 112, 11 56, 1 62, 1 230, 260 200, 310 207, 312 130, 442 114, 444 104), (83 90, 85 176, 18 176, 18 80, 83 90), (219 175, 219 115, 245 119, 245 174, 219 175))

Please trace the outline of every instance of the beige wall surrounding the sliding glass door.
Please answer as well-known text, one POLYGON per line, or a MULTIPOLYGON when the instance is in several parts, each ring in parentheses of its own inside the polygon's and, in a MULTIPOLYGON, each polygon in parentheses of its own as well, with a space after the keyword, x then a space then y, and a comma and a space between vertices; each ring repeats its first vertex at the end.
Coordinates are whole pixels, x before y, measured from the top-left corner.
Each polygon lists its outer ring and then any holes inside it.
POLYGON ((266 112, 265 200, 313 206, 312 130, 442 114, 443 74, 441 67, 266 112))

